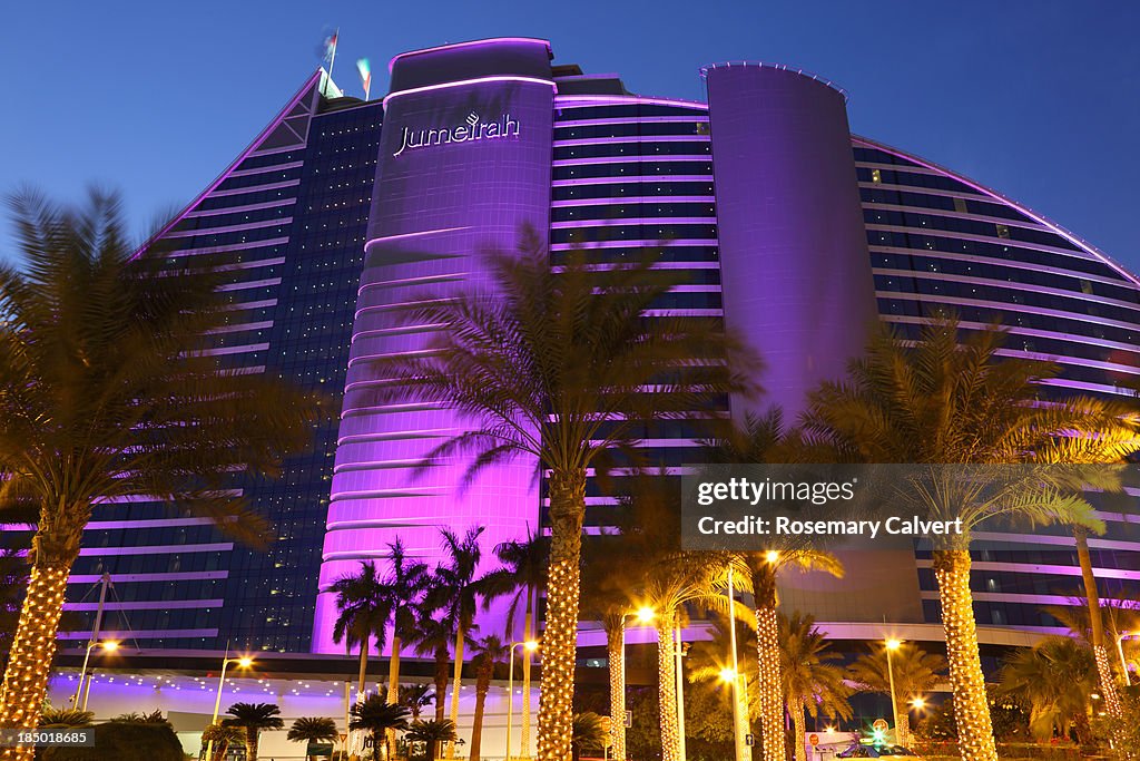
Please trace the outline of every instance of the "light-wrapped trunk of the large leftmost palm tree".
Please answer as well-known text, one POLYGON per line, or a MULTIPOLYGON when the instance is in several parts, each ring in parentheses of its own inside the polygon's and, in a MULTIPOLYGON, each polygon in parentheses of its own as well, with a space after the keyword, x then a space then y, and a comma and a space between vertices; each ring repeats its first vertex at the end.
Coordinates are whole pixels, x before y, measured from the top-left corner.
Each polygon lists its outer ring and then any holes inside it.
MULTIPOLYGON (((40 535, 35 547, 39 548, 40 535)), ((40 720, 40 706, 48 690, 51 659, 56 655, 56 632, 64 609, 64 592, 71 575, 71 560, 50 559, 36 552, 27 583, 27 594, 19 612, 19 623, 11 642, 8 666, 0 691, 0 727, 34 729, 40 720)), ((32 747, 6 747, 0 759, 31 761, 32 747)))

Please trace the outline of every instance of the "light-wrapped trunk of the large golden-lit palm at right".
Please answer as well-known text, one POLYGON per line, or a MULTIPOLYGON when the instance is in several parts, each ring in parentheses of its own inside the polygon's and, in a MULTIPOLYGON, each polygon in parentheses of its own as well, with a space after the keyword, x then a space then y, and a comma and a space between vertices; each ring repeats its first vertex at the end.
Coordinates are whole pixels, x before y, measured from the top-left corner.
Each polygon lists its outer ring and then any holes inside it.
POLYGON ((978 655, 978 630, 974 622, 969 550, 935 550, 934 575, 938 581, 942 625, 946 632, 946 659, 954 688, 954 717, 962 759, 997 761, 986 679, 978 655))

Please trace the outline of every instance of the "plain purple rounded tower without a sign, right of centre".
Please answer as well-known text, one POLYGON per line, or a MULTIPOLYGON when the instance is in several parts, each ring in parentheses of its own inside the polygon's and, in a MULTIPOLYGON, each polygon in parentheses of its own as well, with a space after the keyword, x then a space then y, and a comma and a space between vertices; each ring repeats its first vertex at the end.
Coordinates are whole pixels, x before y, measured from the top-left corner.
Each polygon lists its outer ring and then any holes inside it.
POLYGON ((839 378, 876 319, 844 95, 780 66, 718 64, 708 86, 726 324, 766 363, 738 420, 839 378))

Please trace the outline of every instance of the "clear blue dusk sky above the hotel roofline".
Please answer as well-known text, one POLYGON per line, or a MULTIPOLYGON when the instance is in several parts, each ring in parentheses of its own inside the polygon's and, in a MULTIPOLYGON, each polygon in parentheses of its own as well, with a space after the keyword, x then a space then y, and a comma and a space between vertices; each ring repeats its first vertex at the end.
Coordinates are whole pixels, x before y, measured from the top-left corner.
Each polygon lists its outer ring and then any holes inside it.
MULTIPOLYGON (((979 180, 1140 270, 1140 2, 575 0, 6 3, 0 192, 122 191, 141 233, 193 199, 319 64, 373 95, 400 51, 552 41, 556 63, 703 99, 698 68, 785 63, 850 94, 852 129, 979 180)), ((9 225, 0 259, 10 257, 9 225)))

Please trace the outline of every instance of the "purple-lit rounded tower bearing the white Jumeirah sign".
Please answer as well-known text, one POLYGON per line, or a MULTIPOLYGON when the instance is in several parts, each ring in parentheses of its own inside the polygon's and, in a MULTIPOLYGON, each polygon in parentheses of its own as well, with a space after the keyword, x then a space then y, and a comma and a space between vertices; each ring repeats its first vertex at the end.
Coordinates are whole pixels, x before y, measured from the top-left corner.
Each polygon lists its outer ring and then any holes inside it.
MULTIPOLYGON (((382 558, 397 536, 429 566, 439 529, 483 526, 483 554, 537 531, 536 462, 497 465, 461 488, 469 462, 417 470, 477 424, 441 405, 383 404, 378 357, 423 349, 438 325, 401 306, 489 285, 480 251, 514 250, 523 226, 546 244, 554 83, 549 43, 500 39, 392 60, 325 535, 321 589, 382 558)), ((335 157, 334 157, 335 159, 335 157)), ((383 565, 383 564, 381 564, 383 565)), ((314 650, 336 653, 333 599, 317 601, 314 650)), ((494 631, 494 629, 489 629, 494 631)))

